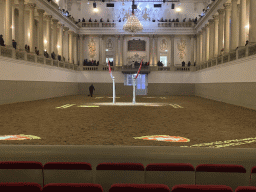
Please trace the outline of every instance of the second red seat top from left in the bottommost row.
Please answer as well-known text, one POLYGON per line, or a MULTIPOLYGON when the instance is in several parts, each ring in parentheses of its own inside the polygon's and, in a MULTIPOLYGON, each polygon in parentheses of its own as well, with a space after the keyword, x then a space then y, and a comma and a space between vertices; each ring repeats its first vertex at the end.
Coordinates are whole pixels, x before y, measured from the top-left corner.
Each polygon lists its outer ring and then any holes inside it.
POLYGON ((43 188, 43 192, 103 192, 99 184, 93 183, 51 183, 43 188))

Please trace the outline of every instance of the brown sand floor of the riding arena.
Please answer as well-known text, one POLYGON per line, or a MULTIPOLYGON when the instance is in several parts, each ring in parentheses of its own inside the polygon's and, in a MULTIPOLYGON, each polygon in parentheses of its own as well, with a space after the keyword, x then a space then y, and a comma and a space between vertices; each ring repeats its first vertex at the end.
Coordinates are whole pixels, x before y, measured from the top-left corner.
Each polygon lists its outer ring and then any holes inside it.
POLYGON ((0 105, 0 140, 23 145, 122 145, 256 148, 256 111, 196 96, 66 96, 0 105), (118 98, 119 97, 119 98, 118 98), (143 140, 169 135, 189 142, 143 140), (217 142, 218 141, 218 142, 217 142))

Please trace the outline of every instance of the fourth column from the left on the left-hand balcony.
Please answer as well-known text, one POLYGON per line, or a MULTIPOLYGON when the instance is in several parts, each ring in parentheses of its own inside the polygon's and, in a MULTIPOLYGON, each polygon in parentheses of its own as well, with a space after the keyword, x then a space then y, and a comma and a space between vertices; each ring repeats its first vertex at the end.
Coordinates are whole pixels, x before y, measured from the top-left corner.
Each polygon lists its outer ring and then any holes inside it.
POLYGON ((44 54, 44 29, 43 29, 43 14, 44 10, 43 9, 37 9, 39 19, 38 19, 38 50, 39 54, 43 55, 44 54))

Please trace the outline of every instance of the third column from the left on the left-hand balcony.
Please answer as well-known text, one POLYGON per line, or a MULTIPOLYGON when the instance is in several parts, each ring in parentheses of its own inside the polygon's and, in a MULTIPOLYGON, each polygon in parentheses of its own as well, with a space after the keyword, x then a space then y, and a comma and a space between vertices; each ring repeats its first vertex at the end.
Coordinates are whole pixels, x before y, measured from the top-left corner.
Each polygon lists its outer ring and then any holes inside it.
POLYGON ((35 19, 34 19, 34 12, 35 12, 35 6, 36 4, 34 3, 29 3, 28 8, 29 8, 29 46, 30 46, 30 52, 34 53, 35 52, 35 43, 34 43, 34 26, 35 26, 35 19))

